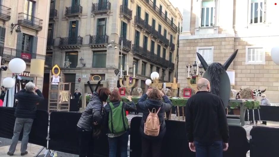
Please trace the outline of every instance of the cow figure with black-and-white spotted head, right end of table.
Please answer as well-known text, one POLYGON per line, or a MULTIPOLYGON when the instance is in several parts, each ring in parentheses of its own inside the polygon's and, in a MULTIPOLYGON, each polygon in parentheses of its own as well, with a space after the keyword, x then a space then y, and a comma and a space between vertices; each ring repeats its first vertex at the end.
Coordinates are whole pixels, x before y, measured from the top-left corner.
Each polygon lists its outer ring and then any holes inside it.
POLYGON ((244 89, 240 88, 240 91, 236 94, 235 99, 256 99, 256 98, 261 97, 261 94, 264 93, 265 91, 266 91, 266 89, 251 90, 250 88, 244 88, 244 89))

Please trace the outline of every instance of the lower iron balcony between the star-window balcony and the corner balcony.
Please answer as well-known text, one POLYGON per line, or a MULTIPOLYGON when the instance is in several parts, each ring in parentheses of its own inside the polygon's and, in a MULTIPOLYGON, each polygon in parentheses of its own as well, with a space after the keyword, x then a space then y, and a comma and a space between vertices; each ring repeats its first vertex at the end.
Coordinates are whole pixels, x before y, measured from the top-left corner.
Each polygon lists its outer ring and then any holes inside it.
POLYGON ((103 48, 107 47, 109 36, 107 35, 91 35, 89 39, 89 45, 91 48, 103 48))

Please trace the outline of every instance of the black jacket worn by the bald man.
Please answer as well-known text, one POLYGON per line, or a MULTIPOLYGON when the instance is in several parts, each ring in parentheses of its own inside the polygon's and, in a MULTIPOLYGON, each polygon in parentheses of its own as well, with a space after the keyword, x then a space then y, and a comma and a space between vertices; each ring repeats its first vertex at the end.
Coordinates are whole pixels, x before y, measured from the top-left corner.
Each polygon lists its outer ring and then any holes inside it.
POLYGON ((222 99, 200 91, 186 104, 186 129, 189 142, 229 141, 229 127, 222 99))

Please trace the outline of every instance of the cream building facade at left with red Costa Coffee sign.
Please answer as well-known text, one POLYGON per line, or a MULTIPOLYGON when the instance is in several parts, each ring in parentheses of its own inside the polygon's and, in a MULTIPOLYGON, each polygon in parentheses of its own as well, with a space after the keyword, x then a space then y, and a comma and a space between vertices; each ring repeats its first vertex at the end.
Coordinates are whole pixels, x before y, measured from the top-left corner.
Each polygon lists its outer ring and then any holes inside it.
MULTIPOLYGON (((22 58, 26 71, 20 74, 21 85, 34 81, 30 77, 31 59, 51 59, 45 56, 47 46, 47 25, 50 0, 1 0, 0 1, 0 53, 2 66, 8 66, 12 58, 22 58), (47 11, 46 11, 47 10, 47 11)), ((12 72, 1 71, 1 82, 12 77, 12 72)), ((37 78, 37 86, 42 89, 43 78, 37 78)))

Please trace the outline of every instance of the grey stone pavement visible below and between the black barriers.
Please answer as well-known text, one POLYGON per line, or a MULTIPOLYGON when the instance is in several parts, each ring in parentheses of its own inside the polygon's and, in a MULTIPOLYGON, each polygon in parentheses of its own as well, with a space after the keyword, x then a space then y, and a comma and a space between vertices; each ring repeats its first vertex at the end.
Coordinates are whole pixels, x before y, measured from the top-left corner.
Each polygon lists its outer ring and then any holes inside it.
MULTIPOLYGON (((133 115, 133 114, 130 114, 128 115, 128 120, 129 120, 129 123, 131 122, 131 119, 134 118, 134 117, 141 117, 142 114, 138 114, 138 115, 133 115)), ((173 114, 172 115, 172 120, 178 120, 178 118, 173 114)), ((182 118, 180 118, 180 121, 184 121, 182 120, 182 118)), ((279 123, 271 123, 271 122, 268 122, 267 123, 268 126, 275 126, 275 127, 278 127, 279 126, 279 123)), ((259 126, 260 124, 258 124, 259 126)), ((243 128, 246 130, 246 133, 247 133, 247 139, 250 139, 250 131, 251 129, 253 128, 253 125, 245 125, 243 126, 243 128)), ((11 144, 11 140, 10 139, 4 139, 4 138, 0 138, 0 141, 2 142, 1 145, 0 145, 0 156, 1 157, 8 157, 6 155, 8 149, 9 149, 9 145, 11 144)), ((19 142, 19 145, 17 147, 18 149, 16 150, 15 152, 15 156, 19 156, 20 153, 19 153, 19 149, 20 149, 20 142, 19 142)), ((27 156, 25 157, 33 157, 36 155, 36 153, 41 149, 42 147, 41 146, 38 146, 38 145, 33 145, 33 144, 28 144, 28 152, 30 152, 27 156)), ((128 150, 130 148, 130 140, 128 142, 128 150)), ((42 153, 38 156, 38 157, 44 157, 45 156, 45 153, 46 150, 44 149, 42 151, 42 153)), ((129 153, 129 152, 128 152, 129 153)), ((68 153, 62 153, 62 152, 57 152, 57 156, 58 157, 78 157, 78 155, 74 155, 74 154, 68 154, 68 153)), ((48 153, 47 157, 50 157, 50 154, 48 153)), ((248 151, 247 153, 247 157, 250 157, 250 152, 248 151)))

